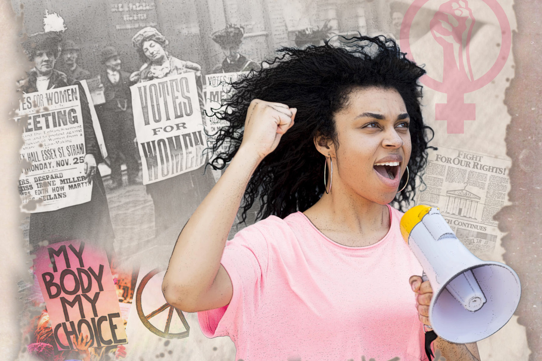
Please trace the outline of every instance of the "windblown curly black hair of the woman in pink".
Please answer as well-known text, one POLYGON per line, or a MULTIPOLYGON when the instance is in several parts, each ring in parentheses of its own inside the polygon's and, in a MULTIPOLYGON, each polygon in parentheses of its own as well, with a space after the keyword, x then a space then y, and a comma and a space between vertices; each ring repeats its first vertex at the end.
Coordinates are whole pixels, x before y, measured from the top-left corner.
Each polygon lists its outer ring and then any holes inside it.
POLYGON ((421 180, 427 149, 433 148, 428 147, 428 142, 434 132, 423 124, 422 86, 417 82, 425 70, 406 58, 395 41, 382 35, 341 36, 340 41, 344 47, 335 47, 326 40, 324 45, 306 49, 279 49, 279 56, 266 61, 270 67, 252 70, 247 77, 232 82, 223 107, 211 115, 227 123, 213 135, 214 142, 209 147, 215 158, 208 165, 222 169, 241 145, 244 121, 253 99, 297 108, 292 128, 282 135, 278 147, 262 160, 250 178, 243 196, 241 222, 246 221, 247 211, 255 201, 260 203, 256 219, 261 219, 269 215, 284 218, 305 211, 320 199, 324 193, 324 156, 317 151, 313 139, 323 135, 339 146, 333 116, 348 106, 349 93, 359 87, 392 88, 403 97, 410 116, 410 178, 392 204, 403 210, 414 199, 416 178, 421 180))

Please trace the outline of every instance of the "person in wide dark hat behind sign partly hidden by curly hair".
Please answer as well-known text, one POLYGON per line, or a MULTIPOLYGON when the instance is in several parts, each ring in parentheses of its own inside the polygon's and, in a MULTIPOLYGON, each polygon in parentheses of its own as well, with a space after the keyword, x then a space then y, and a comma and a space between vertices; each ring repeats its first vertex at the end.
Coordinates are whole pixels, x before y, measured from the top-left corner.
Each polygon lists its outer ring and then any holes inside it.
POLYGON ((211 35, 212 40, 220 45, 225 56, 222 63, 218 64, 212 73, 234 73, 261 69, 258 63, 239 54, 243 36, 244 28, 233 24, 228 24, 224 29, 211 35))

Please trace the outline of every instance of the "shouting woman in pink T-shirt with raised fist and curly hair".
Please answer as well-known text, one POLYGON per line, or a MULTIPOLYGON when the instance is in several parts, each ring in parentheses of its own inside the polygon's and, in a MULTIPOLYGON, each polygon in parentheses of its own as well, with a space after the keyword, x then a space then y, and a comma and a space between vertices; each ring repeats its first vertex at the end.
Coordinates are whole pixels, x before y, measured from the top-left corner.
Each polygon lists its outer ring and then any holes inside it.
POLYGON ((214 148, 230 149, 217 164, 231 163, 180 233, 163 292, 206 336, 229 336, 237 360, 429 357, 432 290, 389 205, 414 198, 427 163, 424 70, 392 40, 347 45, 282 48, 218 114, 229 125, 214 148), (263 220, 226 241, 243 195, 263 220))

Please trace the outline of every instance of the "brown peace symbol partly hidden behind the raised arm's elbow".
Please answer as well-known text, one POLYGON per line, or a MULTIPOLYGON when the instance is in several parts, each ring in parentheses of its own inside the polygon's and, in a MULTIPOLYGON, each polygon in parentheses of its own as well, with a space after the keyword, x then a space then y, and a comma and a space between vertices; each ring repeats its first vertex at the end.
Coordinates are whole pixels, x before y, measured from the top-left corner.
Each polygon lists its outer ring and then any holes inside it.
MULTIPOLYGON (((190 326, 188 325, 188 322, 186 322, 186 319, 184 318, 184 314, 182 311, 176 309, 175 307, 171 306, 169 303, 165 303, 162 306, 158 307, 158 309, 152 311, 149 314, 146 314, 143 312, 143 307, 141 306, 141 294, 143 293, 143 289, 145 288, 146 284, 149 282, 149 280, 154 277, 157 273, 160 272, 159 268, 154 268, 151 272, 147 273, 145 277, 141 279, 141 282, 139 283, 139 286, 137 287, 137 291, 135 291, 135 307, 137 309, 137 314, 139 316, 139 319, 141 320, 141 323, 147 327, 152 333, 157 334, 160 337, 163 338, 184 338, 188 337, 190 326), (163 330, 158 329, 156 326, 151 324, 150 319, 156 316, 159 313, 165 312, 167 310, 167 319, 166 323, 164 325, 163 330), (173 318, 173 312, 177 314, 180 321, 183 323, 184 329, 186 331, 178 332, 178 333, 170 333, 170 325, 171 320, 173 318)), ((156 292, 156 290, 153 290, 156 292)))

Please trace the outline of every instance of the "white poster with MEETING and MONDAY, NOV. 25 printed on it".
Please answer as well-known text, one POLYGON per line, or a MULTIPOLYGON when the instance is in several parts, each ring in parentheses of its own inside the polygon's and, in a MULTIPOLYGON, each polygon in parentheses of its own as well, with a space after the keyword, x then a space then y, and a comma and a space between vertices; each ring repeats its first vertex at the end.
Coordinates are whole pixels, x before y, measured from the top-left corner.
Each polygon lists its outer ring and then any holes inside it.
POLYGON ((24 141, 19 177, 24 212, 55 211, 91 200, 79 95, 77 86, 24 94, 16 110, 14 120, 24 141))

